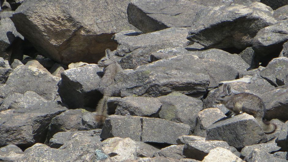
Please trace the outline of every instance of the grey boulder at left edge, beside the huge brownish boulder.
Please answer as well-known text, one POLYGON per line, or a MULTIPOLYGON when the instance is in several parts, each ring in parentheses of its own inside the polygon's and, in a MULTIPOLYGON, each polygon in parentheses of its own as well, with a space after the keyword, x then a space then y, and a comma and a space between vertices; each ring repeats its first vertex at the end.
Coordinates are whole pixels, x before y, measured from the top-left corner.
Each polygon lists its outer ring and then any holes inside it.
POLYGON ((0 24, 0 57, 10 59, 11 53, 6 51, 7 48, 13 43, 16 37, 20 37, 21 39, 24 38, 16 31, 16 28, 9 17, 4 17, 4 15, 1 16, 0 24))

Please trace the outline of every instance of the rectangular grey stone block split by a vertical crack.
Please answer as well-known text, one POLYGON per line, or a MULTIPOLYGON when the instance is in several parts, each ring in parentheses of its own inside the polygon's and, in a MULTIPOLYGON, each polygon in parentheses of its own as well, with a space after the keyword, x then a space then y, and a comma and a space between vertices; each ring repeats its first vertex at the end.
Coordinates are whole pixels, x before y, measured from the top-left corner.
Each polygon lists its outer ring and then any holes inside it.
POLYGON ((135 141, 177 144, 176 139, 189 132, 189 125, 165 119, 110 115, 104 122, 100 137, 129 137, 135 141))

